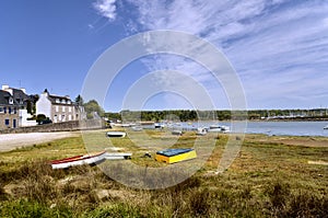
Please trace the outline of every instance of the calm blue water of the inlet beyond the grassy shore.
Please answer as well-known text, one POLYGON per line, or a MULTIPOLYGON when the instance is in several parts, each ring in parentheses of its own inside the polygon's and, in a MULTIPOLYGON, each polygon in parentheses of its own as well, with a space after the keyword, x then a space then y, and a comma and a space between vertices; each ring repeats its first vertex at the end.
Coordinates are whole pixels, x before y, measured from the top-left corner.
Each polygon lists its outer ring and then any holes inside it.
MULTIPOLYGON (((198 126, 209 127, 212 124, 231 126, 229 122, 219 123, 180 123, 175 128, 192 130, 198 126)), ((289 136, 326 136, 328 129, 324 129, 328 122, 248 122, 246 134, 289 135, 289 136)))

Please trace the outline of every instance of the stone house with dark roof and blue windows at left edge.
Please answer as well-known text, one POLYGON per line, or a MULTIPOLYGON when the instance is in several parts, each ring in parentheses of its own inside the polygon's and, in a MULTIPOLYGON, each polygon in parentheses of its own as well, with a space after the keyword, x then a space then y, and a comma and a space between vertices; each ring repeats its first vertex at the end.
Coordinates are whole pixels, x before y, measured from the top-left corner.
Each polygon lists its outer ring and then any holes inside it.
POLYGON ((0 90, 0 129, 19 126, 19 104, 10 92, 0 90))

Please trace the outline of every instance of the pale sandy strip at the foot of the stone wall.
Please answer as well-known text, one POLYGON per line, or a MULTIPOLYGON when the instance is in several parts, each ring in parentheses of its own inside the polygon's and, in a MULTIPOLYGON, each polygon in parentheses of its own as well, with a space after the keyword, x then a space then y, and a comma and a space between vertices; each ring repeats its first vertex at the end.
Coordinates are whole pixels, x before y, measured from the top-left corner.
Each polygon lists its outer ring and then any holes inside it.
POLYGON ((30 133, 30 134, 5 134, 0 135, 0 152, 10 151, 19 147, 33 146, 52 141, 55 139, 79 136, 79 133, 30 133))

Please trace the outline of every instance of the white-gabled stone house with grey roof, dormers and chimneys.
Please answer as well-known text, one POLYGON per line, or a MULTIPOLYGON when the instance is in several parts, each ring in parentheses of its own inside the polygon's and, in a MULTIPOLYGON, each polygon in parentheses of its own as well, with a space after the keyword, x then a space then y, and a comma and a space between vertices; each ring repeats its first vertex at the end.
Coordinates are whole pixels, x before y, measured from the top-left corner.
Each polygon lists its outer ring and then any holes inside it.
POLYGON ((77 105, 69 96, 49 94, 46 89, 36 102, 36 114, 44 114, 52 123, 81 121, 85 118, 84 107, 77 105))

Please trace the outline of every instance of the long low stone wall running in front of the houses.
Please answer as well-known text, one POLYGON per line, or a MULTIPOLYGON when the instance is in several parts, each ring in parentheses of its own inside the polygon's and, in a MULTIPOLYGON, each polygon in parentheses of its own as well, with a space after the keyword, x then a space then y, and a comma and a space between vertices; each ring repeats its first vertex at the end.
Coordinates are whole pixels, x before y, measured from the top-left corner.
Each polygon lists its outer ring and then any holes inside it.
POLYGON ((0 130, 0 134, 22 134, 22 133, 50 133, 50 131, 73 131, 82 129, 105 128, 103 119, 72 121, 57 124, 44 124, 37 126, 26 126, 20 128, 8 128, 0 130))

